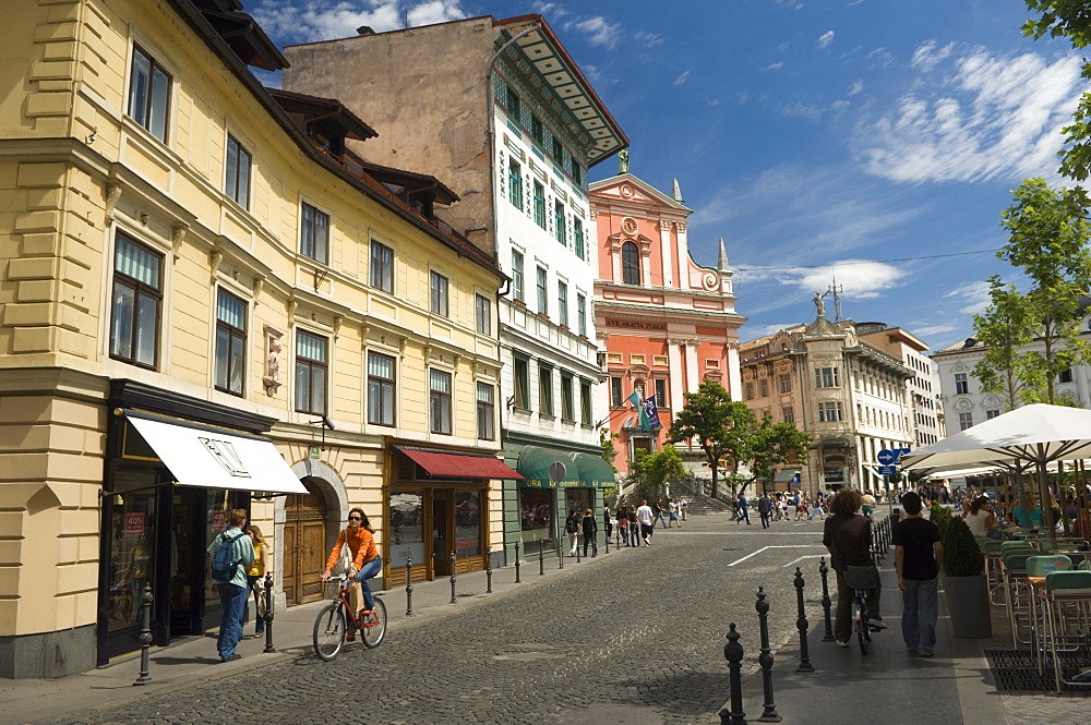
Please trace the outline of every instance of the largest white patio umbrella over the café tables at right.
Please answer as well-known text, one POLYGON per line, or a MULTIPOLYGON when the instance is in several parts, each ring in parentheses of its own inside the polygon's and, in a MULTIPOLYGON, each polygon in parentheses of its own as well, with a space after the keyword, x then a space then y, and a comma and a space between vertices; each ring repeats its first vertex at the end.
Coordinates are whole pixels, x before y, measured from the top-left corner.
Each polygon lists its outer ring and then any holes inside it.
MULTIPOLYGON (((1038 469, 1039 502, 1048 508, 1046 467, 1091 455, 1091 410, 1035 403, 997 415, 902 456, 903 469, 996 466, 1038 469)), ((1052 533, 1052 527, 1051 527, 1052 533)))

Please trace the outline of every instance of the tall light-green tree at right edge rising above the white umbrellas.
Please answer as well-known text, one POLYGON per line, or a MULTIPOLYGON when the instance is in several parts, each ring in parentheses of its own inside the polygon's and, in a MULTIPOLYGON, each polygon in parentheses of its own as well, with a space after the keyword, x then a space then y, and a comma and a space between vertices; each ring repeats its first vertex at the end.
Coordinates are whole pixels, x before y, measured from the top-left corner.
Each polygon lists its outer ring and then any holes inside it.
MULTIPOLYGON (((1080 297, 1091 288, 1091 227, 1086 209, 1074 208, 1067 190, 1051 189, 1043 179, 1028 179, 1015 191, 1015 204, 1002 214, 1008 243, 996 256, 1019 269, 1030 289, 1008 289, 1003 298, 1018 307, 1026 324, 1018 336, 1040 340, 1044 351, 1021 351, 1016 367, 1027 402, 1057 401, 1056 379, 1072 365, 1091 362, 1091 343, 1082 339, 1080 297)), ((1009 316, 1010 318, 1010 316, 1009 316)), ((1012 318, 1016 319, 1016 318, 1012 318)))

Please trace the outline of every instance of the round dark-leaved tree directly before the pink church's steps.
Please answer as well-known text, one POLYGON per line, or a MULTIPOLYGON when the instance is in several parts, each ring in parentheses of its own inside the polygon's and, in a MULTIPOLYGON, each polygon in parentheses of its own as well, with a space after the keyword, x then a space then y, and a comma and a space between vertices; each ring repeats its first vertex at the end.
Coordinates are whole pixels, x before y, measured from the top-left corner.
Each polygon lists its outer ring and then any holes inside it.
POLYGON ((738 466, 757 427, 754 414, 743 402, 731 400, 723 386, 706 380, 697 392, 683 395, 685 403, 671 422, 671 443, 695 440, 712 471, 712 497, 718 498, 720 462, 738 466))

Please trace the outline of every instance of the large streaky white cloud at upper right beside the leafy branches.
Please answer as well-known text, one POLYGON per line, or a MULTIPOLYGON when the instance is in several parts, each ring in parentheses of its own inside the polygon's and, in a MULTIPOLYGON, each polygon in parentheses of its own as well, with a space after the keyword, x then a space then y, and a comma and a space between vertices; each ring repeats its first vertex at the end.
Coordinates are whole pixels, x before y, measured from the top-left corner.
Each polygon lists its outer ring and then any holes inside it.
POLYGON ((908 183, 1052 176, 1086 86, 1080 62, 925 44, 913 89, 861 122, 855 156, 868 173, 908 183))

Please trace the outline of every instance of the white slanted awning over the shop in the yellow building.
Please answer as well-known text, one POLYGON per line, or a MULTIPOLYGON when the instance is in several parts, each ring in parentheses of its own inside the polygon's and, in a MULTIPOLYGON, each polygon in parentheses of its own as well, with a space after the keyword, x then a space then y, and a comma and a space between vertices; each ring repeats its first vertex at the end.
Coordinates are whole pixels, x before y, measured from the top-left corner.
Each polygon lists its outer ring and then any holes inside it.
POLYGON ((190 427, 127 411, 125 418, 180 486, 305 494, 273 444, 212 426, 190 427))

